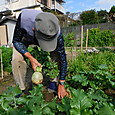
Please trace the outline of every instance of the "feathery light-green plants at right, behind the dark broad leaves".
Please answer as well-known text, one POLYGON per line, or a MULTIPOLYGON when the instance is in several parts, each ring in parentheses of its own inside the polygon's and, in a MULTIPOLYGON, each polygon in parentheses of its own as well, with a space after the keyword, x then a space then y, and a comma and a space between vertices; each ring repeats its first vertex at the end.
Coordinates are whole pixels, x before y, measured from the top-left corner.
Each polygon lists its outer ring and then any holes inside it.
POLYGON ((104 51, 92 54, 79 53, 73 62, 68 61, 68 75, 73 76, 79 71, 87 72, 97 70, 98 65, 106 64, 112 75, 115 73, 115 53, 113 51, 104 51))

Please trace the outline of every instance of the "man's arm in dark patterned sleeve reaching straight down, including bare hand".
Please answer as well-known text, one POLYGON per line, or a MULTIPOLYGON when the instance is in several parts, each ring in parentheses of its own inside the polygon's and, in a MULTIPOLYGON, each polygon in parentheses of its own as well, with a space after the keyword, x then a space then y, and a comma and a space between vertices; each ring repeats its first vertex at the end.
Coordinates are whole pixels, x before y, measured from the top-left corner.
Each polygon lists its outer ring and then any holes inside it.
MULTIPOLYGON (((60 62, 60 78, 59 82, 65 82, 65 77, 67 73, 67 59, 66 59, 66 53, 64 48, 64 40, 63 40, 63 34, 61 33, 58 37, 58 43, 57 43, 57 52, 60 62)), ((63 98, 66 95, 66 90, 64 88, 63 84, 59 83, 58 86, 58 97, 63 98)))

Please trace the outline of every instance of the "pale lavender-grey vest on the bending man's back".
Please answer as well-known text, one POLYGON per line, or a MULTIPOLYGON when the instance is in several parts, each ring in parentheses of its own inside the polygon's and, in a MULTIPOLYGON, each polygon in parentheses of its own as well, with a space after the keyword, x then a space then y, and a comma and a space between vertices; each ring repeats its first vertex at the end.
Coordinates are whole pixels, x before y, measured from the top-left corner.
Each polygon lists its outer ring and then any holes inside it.
POLYGON ((33 9, 23 9, 21 13, 21 28, 25 29, 27 34, 34 36, 32 28, 34 28, 34 21, 36 16, 43 11, 33 9))

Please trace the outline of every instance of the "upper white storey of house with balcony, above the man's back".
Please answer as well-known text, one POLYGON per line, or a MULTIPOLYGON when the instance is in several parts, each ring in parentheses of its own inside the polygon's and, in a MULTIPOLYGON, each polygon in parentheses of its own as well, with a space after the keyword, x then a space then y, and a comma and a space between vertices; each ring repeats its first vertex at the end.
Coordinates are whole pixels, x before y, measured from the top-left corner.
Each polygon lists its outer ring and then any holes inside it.
MULTIPOLYGON (((2 0, 3 1, 3 0, 2 0)), ((0 5, 0 12, 11 10, 13 15, 18 17, 22 9, 50 9, 60 14, 65 13, 65 8, 62 6, 64 0, 4 0, 0 5)))

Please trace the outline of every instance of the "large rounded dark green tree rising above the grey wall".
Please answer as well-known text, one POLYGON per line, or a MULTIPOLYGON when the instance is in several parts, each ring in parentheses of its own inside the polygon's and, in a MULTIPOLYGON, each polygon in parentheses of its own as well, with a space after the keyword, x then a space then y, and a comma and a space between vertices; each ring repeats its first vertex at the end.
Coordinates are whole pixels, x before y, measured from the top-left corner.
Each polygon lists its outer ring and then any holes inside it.
POLYGON ((80 14, 80 19, 82 20, 82 24, 95 24, 97 23, 98 15, 95 10, 83 11, 80 14))

